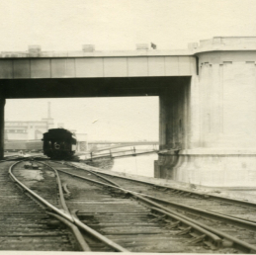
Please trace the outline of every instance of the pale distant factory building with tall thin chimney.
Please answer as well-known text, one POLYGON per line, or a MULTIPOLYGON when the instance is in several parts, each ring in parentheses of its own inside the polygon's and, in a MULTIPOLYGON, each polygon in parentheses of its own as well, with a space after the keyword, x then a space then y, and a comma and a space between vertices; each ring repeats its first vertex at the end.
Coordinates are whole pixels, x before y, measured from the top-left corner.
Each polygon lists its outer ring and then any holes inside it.
POLYGON ((53 128, 54 120, 50 118, 50 103, 48 102, 48 115, 42 121, 5 122, 5 140, 39 140, 43 132, 53 128))

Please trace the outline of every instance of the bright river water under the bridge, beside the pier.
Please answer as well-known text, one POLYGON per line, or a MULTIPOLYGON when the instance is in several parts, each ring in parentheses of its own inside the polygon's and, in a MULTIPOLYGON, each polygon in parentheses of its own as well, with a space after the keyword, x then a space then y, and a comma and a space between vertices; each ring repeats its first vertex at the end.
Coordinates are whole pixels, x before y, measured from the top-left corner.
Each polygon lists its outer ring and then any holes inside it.
POLYGON ((139 156, 96 160, 87 164, 115 172, 154 177, 154 160, 157 159, 157 153, 151 153, 139 156))

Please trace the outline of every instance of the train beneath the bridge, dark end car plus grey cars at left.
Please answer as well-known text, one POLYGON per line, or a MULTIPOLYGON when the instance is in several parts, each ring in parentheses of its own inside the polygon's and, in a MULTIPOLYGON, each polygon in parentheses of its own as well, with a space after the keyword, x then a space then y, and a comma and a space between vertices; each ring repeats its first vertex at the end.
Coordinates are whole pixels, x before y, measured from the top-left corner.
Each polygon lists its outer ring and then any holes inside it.
POLYGON ((64 128, 51 128, 43 133, 42 140, 5 141, 6 152, 43 152, 51 159, 68 159, 74 155, 77 139, 74 133, 64 128))

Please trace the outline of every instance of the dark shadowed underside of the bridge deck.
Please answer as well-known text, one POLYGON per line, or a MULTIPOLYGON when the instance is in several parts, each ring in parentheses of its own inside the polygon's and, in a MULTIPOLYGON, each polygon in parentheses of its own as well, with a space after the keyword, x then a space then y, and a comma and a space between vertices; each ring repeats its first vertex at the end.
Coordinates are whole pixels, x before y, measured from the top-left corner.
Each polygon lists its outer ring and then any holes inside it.
POLYGON ((2 79, 1 95, 15 98, 160 96, 189 84, 190 76, 2 79))

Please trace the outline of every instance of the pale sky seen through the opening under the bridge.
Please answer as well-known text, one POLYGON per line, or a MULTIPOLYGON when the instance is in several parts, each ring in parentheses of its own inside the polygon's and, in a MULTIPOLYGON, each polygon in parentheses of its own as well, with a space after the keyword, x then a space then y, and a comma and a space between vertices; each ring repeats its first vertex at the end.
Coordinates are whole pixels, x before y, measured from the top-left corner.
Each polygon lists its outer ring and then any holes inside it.
POLYGON ((7 100, 6 121, 41 121, 88 133, 91 140, 158 140, 158 97, 7 100))

